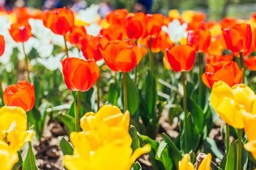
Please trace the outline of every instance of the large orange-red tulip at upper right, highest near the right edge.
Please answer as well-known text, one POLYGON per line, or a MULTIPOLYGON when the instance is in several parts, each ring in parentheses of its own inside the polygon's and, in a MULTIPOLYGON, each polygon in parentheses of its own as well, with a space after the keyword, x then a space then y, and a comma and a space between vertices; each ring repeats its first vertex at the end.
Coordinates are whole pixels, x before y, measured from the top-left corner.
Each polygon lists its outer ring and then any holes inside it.
POLYGON ((233 27, 222 29, 220 42, 224 48, 232 52, 240 53, 249 50, 251 46, 251 26, 250 24, 236 24, 233 27))

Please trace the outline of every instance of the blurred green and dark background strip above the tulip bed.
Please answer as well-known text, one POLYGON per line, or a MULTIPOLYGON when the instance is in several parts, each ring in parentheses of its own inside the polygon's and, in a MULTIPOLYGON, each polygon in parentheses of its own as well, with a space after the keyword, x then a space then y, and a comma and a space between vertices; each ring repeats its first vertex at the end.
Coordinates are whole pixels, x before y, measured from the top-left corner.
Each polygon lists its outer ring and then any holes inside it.
POLYGON ((238 19, 250 18, 256 11, 255 0, 0 0, 0 6, 11 10, 15 7, 28 6, 41 10, 53 10, 66 6, 73 10, 84 9, 92 3, 100 4, 104 10, 126 8, 129 12, 144 11, 145 13, 161 13, 167 15, 171 9, 203 11, 210 20, 220 20, 225 16, 238 19))

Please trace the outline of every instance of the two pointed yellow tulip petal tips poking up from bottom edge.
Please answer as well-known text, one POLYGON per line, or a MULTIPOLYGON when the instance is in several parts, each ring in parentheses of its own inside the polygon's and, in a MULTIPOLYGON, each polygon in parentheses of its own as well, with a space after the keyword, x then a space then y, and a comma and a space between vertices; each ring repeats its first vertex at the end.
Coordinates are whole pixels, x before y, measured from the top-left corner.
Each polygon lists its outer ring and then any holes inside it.
MULTIPOLYGON (((194 165, 191 162, 189 162, 189 159, 190 157, 188 154, 185 154, 183 156, 183 159, 181 159, 181 161, 179 162, 179 170, 195 170, 194 165)), ((211 160, 212 155, 208 154, 207 156, 205 156, 205 158, 199 165, 199 170, 210 170, 211 160)))

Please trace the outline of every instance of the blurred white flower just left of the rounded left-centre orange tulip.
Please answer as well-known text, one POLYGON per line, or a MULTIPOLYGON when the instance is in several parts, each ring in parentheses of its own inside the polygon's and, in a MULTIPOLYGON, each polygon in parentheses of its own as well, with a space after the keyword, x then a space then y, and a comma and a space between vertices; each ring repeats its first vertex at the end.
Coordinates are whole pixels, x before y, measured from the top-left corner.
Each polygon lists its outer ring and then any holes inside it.
POLYGON ((36 58, 40 64, 42 64, 46 69, 50 71, 55 71, 57 69, 61 70, 61 59, 65 56, 65 53, 56 54, 56 56, 50 56, 48 58, 36 58))

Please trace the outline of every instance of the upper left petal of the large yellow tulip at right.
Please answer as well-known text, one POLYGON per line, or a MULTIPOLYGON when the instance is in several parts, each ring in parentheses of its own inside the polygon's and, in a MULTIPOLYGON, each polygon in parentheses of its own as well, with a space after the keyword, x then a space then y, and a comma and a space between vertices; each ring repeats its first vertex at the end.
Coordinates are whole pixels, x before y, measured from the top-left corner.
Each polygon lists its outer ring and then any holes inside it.
POLYGON ((213 109, 216 111, 217 104, 222 97, 229 97, 235 100, 233 92, 228 84, 225 82, 217 82, 212 86, 212 93, 210 96, 210 104, 212 104, 213 109))

